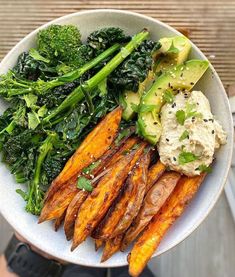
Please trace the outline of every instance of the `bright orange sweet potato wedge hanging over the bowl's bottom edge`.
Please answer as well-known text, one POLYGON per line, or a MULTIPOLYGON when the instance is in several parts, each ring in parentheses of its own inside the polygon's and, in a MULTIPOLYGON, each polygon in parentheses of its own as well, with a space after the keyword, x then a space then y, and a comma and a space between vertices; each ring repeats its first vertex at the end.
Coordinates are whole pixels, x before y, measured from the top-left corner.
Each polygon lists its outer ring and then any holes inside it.
POLYGON ((135 243, 128 256, 129 274, 139 276, 157 249, 163 236, 183 213, 189 201, 196 194, 205 174, 196 177, 182 177, 172 195, 155 215, 144 233, 135 243))

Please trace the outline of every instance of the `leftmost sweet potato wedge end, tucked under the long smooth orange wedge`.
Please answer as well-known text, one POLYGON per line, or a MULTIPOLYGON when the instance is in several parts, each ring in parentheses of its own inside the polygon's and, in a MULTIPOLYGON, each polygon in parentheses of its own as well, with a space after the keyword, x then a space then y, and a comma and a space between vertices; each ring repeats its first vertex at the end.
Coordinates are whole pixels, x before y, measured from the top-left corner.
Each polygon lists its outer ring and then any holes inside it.
POLYGON ((65 183, 61 189, 56 191, 49 201, 44 204, 38 223, 61 217, 78 191, 76 180, 65 183))

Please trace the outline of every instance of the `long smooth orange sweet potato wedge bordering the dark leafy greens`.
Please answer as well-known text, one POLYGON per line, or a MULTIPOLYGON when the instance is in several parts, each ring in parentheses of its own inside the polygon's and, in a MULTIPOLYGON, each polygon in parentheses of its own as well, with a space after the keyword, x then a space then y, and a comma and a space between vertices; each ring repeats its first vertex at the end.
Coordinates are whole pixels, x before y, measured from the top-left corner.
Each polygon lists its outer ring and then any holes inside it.
POLYGON ((45 200, 49 199, 59 188, 92 162, 98 160, 110 147, 117 135, 122 117, 122 109, 116 108, 88 134, 82 144, 67 161, 61 173, 52 182, 45 200), (99 145, 99 147, 97 147, 99 145))

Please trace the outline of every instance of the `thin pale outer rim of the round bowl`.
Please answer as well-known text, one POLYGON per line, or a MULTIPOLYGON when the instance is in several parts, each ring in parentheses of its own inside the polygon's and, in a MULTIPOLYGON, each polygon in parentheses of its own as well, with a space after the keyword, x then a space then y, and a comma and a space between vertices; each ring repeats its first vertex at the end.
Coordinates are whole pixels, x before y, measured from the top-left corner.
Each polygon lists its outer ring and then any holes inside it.
MULTIPOLYGON (((144 14, 140 14, 140 13, 137 13, 137 12, 132 12, 132 11, 127 11, 127 10, 120 10, 120 9, 91 9, 91 10, 86 10, 86 11, 78 11, 78 12, 74 12, 74 13, 69 13, 69 14, 66 14, 64 16, 61 16, 61 17, 58 17, 58 18, 55 18, 41 26, 39 26, 38 28, 36 28, 35 30, 33 30, 32 32, 30 32, 29 34, 27 34, 23 39, 21 39, 6 55, 5 57, 2 59, 1 63, 0 63, 0 67, 2 66, 2 64, 4 64, 8 58, 11 56, 11 54, 15 51, 15 49, 17 49, 19 46, 23 45, 25 41, 28 40, 28 38, 30 38, 31 36, 35 35, 36 33, 38 33, 39 30, 41 29, 44 29, 46 27, 48 27, 49 25, 51 24, 60 24, 60 21, 61 20, 64 20, 64 19, 69 19, 69 18, 72 18, 74 16, 79 16, 79 15, 84 15, 84 14, 96 14, 96 13, 104 13, 104 12, 109 12, 109 13, 116 13, 116 14, 125 14, 125 15, 131 15, 131 16, 134 16, 134 17, 139 17, 139 18, 142 18, 142 19, 145 19, 145 20, 148 20, 148 21, 152 21, 153 23, 157 24, 157 25, 161 25, 162 27, 172 31, 173 33, 175 33, 176 35, 182 35, 178 30, 176 30, 175 28, 171 27, 170 25, 158 20, 158 19, 155 19, 155 18, 152 18, 150 16, 147 16, 147 15, 144 15, 144 14)), ((63 23, 62 23, 63 25, 63 23)), ((191 45, 192 45, 192 48, 198 53, 200 54, 201 58, 203 60, 207 60, 208 59, 206 58, 206 56, 202 53, 202 51, 190 40, 191 42, 191 45)), ((221 89, 221 93, 224 94, 224 101, 225 101, 225 105, 226 105, 226 108, 227 108, 227 111, 229 113, 229 122, 228 122, 228 127, 229 127, 229 130, 231 131, 230 132, 230 136, 233 137, 234 135, 234 129, 233 129, 233 125, 232 125, 232 114, 231 114, 231 109, 230 109, 230 105, 229 105, 229 101, 228 101, 228 97, 227 97, 227 94, 226 94, 226 91, 224 89, 224 86, 222 84, 222 81, 220 80, 220 77, 218 75, 218 73, 215 71, 214 67, 211 65, 211 63, 209 62, 209 67, 210 69, 212 70, 214 76, 215 76, 215 79, 216 81, 218 82, 219 86, 220 86, 220 89, 221 89)), ((207 218, 207 216, 209 215, 209 213, 211 212, 211 210, 213 209, 213 207, 215 206, 216 202, 218 201, 223 189, 224 189, 224 186, 225 186, 225 183, 226 183, 226 180, 227 180, 227 177, 228 177, 228 172, 229 172, 229 168, 230 168, 230 165, 231 165, 231 161, 232 161, 232 153, 233 153, 233 150, 232 150, 232 147, 230 148, 231 150, 228 152, 228 161, 229 163, 227 164, 227 167, 225 168, 224 172, 224 178, 221 182, 221 186, 217 192, 217 194, 215 195, 215 197, 213 198, 213 201, 211 201, 207 211, 203 214, 203 216, 201 216, 200 220, 197 221, 197 223, 195 225, 193 225, 186 233, 184 233, 184 235, 182 237, 180 237, 178 240, 176 240, 176 242, 172 243, 171 245, 169 245, 167 248, 165 248, 164 250, 161 250, 160 252, 156 253, 152 256, 153 257, 157 257, 157 256, 160 256, 161 254, 169 251, 170 249, 176 247, 178 244, 180 244, 181 242, 183 242, 189 235, 191 235, 201 224, 202 222, 207 218)), ((3 213, 2 211, 0 211, 1 214, 3 215, 3 217, 7 220, 7 222, 11 225, 11 227, 18 233, 20 234, 22 237, 24 237, 25 239, 27 239, 27 236, 24 232, 24 229, 15 229, 14 227, 14 222, 10 219, 10 217, 8 216, 8 213, 3 213)), ((31 242, 30 242, 31 243, 31 242)), ((32 245, 36 246, 37 248, 39 248, 40 250, 52 255, 53 257, 55 258, 58 258, 58 259, 61 259, 61 257, 59 255, 56 255, 56 253, 49 253, 48 250, 46 250, 44 248, 44 245, 43 244, 39 244, 37 242, 32 242, 31 243, 32 245)), ((70 262, 70 260, 66 260, 66 259, 63 259, 64 261, 66 262, 70 262)), ((79 260, 78 260, 78 263, 77 264, 80 264, 80 265, 84 265, 84 266, 89 266, 89 267, 99 267, 99 268, 106 268, 106 267, 121 267, 121 266, 125 266, 127 265, 128 263, 127 262, 119 262, 118 265, 106 265, 106 264, 103 264, 103 263, 99 263, 98 265, 97 264, 90 264, 90 263, 85 263, 85 262, 82 262, 82 263, 79 263, 79 260)))

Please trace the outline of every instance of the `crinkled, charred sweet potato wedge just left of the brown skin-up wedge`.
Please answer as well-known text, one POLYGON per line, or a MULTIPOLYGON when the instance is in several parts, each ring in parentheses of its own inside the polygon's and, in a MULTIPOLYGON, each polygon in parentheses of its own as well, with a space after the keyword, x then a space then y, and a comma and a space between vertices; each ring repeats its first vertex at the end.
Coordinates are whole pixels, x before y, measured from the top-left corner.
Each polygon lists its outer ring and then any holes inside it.
POLYGON ((128 177, 123 195, 116 203, 112 213, 106 217, 102 228, 95 234, 97 238, 110 239, 116 237, 115 234, 121 234, 129 227, 132 219, 138 213, 137 206, 140 207, 143 200, 149 162, 150 154, 148 152, 143 154, 138 161, 138 165, 128 177))

